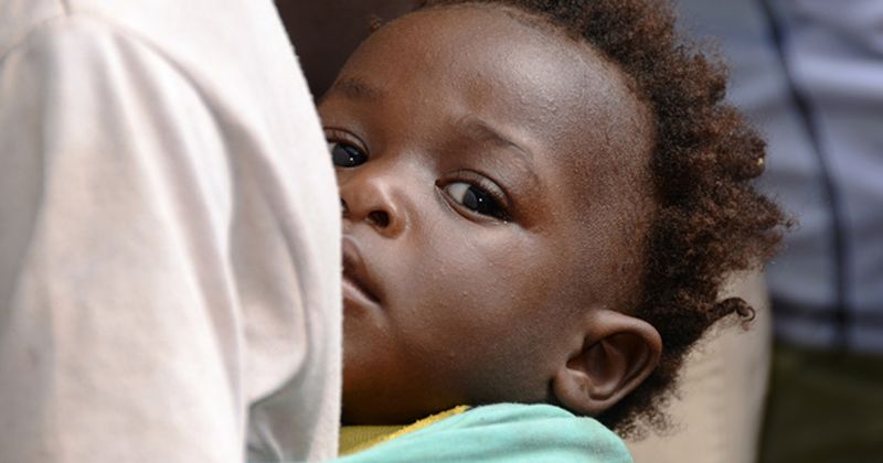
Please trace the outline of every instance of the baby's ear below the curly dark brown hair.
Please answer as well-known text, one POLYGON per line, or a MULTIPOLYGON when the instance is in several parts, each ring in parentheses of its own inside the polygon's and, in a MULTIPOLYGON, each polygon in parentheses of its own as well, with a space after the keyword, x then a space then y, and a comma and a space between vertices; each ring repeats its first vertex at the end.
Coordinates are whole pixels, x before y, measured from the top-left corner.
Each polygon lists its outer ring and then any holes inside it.
POLYGON ((597 417, 652 373, 662 340, 643 320, 610 310, 594 310, 584 323, 583 345, 554 376, 552 392, 568 410, 597 417))

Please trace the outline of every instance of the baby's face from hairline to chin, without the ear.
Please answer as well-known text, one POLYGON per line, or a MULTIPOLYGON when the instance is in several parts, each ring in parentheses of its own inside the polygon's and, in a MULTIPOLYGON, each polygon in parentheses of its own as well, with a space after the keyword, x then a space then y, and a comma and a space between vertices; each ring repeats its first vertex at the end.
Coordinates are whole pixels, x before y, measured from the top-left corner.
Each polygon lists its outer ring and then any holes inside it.
POLYGON ((343 207, 344 422, 547 401, 585 313, 638 281, 643 106, 588 45, 518 14, 407 15, 321 101, 343 207))

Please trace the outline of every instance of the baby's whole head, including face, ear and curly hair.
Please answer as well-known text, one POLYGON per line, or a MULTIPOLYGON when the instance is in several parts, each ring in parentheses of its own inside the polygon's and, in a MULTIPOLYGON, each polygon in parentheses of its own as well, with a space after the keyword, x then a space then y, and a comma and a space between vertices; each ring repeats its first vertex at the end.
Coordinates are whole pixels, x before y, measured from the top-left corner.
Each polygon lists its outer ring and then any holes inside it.
POLYGON ((656 1, 445 1, 319 110, 343 209, 348 423, 547 402, 628 431, 747 309, 781 216, 763 143, 656 1))

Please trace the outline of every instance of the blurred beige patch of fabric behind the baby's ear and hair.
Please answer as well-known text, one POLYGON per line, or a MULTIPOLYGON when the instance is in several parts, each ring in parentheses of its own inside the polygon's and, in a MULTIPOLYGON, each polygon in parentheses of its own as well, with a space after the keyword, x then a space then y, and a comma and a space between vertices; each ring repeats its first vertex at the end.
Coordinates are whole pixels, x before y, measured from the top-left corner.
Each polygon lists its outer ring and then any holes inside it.
POLYGON ((772 347, 769 303, 760 273, 734 279, 727 293, 748 301, 755 321, 747 332, 733 321, 711 330, 684 366, 669 435, 628 442, 636 463, 755 461, 772 347))

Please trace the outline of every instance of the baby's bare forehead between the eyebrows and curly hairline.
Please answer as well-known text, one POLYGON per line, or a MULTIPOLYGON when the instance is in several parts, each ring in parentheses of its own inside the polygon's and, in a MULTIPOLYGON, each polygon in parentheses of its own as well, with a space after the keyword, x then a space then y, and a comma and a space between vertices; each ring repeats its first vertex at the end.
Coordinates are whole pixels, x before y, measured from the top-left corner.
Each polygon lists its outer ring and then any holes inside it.
POLYGON ((638 146, 650 141, 652 123, 629 76, 544 21, 497 4, 418 11, 369 37, 342 77, 405 104, 515 116, 510 122, 535 129, 538 138, 574 141, 584 151, 646 152, 638 146))

